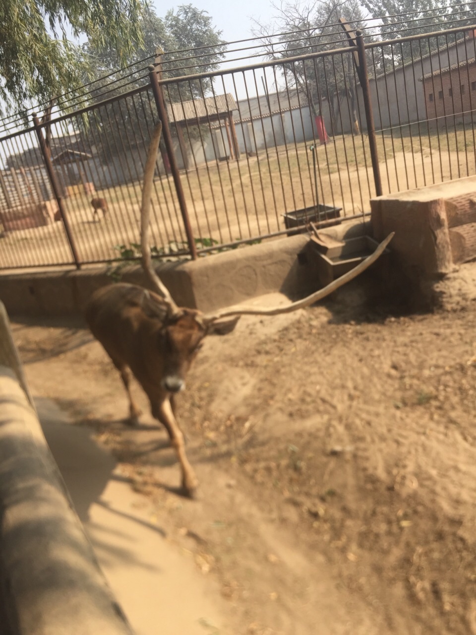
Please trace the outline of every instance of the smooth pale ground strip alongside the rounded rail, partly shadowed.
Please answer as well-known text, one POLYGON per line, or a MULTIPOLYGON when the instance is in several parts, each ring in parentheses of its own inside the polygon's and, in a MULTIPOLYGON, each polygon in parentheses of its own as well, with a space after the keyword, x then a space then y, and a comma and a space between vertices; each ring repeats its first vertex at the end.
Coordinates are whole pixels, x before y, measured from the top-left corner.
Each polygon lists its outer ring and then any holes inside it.
POLYGON ((149 498, 131 489, 90 430, 72 425, 50 399, 36 404, 79 518, 136 634, 202 635, 202 624, 220 625, 217 585, 204 584, 194 563, 170 544, 149 498), (180 608, 184 588, 190 595, 180 608))

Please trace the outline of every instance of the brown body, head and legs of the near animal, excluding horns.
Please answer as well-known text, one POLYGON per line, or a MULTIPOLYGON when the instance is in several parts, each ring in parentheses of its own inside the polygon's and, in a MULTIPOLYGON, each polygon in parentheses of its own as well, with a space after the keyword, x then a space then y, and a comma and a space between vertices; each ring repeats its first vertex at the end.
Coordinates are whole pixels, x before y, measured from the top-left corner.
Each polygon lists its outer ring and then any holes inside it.
POLYGON ((168 318, 167 306, 156 293, 135 284, 112 284, 96 291, 86 306, 91 333, 103 345, 121 373, 129 398, 129 420, 140 410, 130 391, 131 371, 149 398, 152 415, 166 428, 182 467, 182 486, 189 495, 198 481, 185 455, 183 434, 175 419, 174 394, 185 387, 185 376, 206 335, 225 335, 238 318, 209 322, 199 311, 183 309, 168 318))

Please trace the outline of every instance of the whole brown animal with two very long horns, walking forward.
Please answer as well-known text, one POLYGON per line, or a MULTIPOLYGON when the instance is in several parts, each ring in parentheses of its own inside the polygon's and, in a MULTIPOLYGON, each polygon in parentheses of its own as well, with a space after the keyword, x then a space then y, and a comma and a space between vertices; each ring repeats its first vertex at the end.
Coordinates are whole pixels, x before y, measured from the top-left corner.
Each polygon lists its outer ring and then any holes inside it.
POLYGON ((129 400, 129 423, 137 424, 140 415, 130 389, 131 375, 134 375, 149 398, 152 416, 164 425, 175 448, 182 471, 182 488, 185 494, 193 497, 198 481, 185 454, 183 434, 175 418, 175 396, 185 388, 188 368, 204 338, 230 333, 243 314, 272 316, 296 311, 321 300, 367 269, 383 253, 393 234, 355 269, 326 288, 284 308, 225 309, 206 315, 195 309, 178 307, 154 271, 148 246, 150 196, 161 131, 159 121, 145 164, 141 205, 142 266, 157 292, 135 284, 105 286, 89 299, 85 317, 91 333, 121 374, 129 400))

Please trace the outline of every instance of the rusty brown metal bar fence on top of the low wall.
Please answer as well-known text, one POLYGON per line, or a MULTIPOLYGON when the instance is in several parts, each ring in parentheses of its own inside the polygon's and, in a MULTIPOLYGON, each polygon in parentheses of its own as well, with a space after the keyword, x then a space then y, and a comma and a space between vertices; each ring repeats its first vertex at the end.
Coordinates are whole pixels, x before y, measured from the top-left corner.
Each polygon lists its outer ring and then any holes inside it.
POLYGON ((362 217, 376 194, 476 173, 476 27, 147 81, 0 138, 0 269, 137 258, 149 135, 164 123, 154 257, 362 217), (93 216, 91 199, 107 214, 93 216))

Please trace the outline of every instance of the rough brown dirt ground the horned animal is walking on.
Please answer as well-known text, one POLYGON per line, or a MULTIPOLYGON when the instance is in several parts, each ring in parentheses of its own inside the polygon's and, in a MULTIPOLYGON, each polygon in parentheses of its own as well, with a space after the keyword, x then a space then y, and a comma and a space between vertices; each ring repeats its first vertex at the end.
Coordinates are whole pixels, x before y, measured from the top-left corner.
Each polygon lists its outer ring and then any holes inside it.
POLYGON ((79 322, 18 320, 14 335, 35 394, 95 429, 218 582, 226 625, 204 632, 476 634, 476 271, 463 269, 432 313, 370 309, 351 288, 209 338, 179 403, 195 501, 174 490, 150 415, 121 421, 117 372, 79 322))

